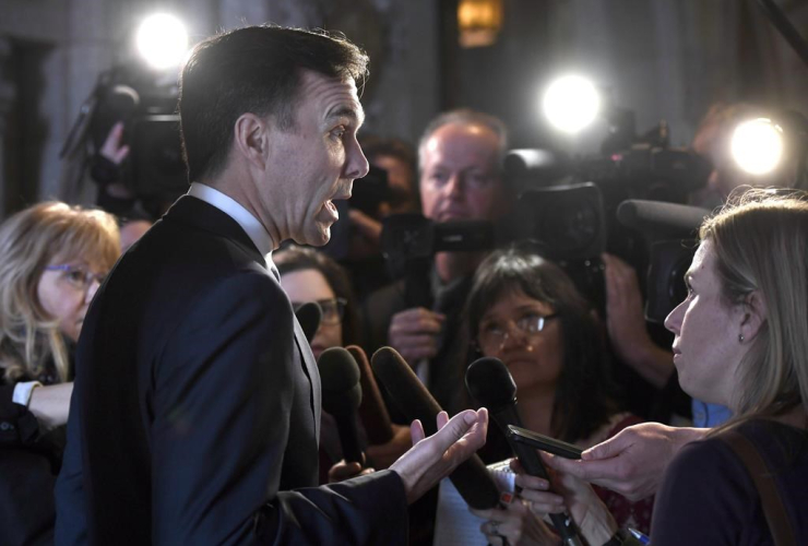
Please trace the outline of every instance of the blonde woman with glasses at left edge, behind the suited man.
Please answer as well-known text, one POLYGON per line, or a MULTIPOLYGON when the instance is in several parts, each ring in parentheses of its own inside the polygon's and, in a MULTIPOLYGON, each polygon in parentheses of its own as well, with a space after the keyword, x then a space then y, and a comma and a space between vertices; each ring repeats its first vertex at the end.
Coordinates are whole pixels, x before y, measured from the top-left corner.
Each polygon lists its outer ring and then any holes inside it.
POLYGON ((52 543, 73 347, 119 253, 102 211, 47 202, 0 226, 0 544, 52 543))

